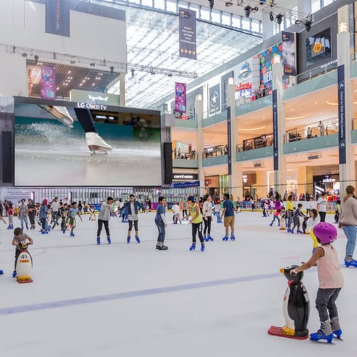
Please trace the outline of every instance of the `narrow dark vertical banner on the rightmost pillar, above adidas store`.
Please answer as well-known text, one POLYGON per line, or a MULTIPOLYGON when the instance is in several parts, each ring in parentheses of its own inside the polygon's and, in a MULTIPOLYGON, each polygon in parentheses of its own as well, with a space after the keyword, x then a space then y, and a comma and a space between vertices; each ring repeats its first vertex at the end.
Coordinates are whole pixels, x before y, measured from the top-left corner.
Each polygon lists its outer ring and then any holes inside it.
POLYGON ((345 65, 337 68, 339 110, 339 163, 346 164, 345 65))

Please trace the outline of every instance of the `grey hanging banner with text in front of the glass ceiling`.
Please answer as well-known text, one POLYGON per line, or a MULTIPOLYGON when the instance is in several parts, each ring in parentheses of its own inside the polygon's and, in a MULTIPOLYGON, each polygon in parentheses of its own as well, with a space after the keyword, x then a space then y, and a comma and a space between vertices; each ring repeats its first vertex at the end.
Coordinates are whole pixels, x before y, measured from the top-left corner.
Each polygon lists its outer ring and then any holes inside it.
POLYGON ((197 60, 196 11, 179 7, 179 56, 197 60))

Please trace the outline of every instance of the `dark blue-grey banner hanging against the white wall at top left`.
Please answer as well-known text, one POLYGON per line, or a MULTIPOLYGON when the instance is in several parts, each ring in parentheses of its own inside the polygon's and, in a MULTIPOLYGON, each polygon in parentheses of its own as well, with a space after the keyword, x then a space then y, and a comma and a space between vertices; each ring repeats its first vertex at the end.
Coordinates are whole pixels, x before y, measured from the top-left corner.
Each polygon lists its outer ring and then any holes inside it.
POLYGON ((54 35, 69 35, 70 0, 46 0, 46 32, 54 35))

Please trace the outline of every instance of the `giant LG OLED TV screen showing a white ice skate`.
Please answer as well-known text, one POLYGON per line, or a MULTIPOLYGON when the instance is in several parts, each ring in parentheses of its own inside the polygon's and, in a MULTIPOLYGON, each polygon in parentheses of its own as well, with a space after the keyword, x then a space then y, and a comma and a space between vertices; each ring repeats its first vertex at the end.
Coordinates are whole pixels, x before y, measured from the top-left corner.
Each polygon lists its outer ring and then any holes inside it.
POLYGON ((160 112, 15 99, 16 186, 160 186, 160 112))

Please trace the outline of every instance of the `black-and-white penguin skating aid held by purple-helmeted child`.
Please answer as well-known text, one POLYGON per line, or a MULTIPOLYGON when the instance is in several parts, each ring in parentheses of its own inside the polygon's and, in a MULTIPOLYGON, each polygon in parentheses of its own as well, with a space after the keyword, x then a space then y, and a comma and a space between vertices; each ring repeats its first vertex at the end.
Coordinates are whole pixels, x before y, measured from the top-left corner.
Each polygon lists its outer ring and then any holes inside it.
POLYGON ((288 279, 288 288, 283 299, 283 314, 285 325, 283 327, 271 326, 269 335, 280 336, 298 340, 309 338, 307 323, 310 314, 310 299, 306 288, 301 282, 303 273, 290 275, 290 270, 298 266, 282 268, 280 272, 288 279))

